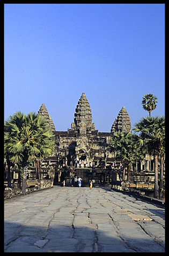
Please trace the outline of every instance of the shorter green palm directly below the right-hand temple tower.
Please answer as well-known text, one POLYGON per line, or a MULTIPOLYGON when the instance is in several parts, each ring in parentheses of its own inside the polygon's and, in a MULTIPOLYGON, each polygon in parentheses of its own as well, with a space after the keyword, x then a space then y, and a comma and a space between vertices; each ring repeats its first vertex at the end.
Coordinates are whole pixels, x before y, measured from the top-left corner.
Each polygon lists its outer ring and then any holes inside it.
POLYGON ((142 148, 136 145, 137 135, 131 132, 114 132, 111 138, 111 151, 116 152, 115 158, 123 161, 124 181, 125 169, 127 167, 127 181, 130 181, 130 168, 137 159, 144 158, 142 148))

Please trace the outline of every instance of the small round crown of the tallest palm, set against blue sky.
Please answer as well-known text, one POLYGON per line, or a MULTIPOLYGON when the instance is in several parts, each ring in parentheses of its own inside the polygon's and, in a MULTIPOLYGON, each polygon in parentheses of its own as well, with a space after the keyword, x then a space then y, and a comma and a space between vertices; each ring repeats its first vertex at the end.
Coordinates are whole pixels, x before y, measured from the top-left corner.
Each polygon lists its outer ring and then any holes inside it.
POLYGON ((151 116, 152 110, 156 109, 156 103, 157 103, 157 97, 154 96, 153 94, 145 94, 143 96, 143 109, 149 112, 149 116, 151 116))

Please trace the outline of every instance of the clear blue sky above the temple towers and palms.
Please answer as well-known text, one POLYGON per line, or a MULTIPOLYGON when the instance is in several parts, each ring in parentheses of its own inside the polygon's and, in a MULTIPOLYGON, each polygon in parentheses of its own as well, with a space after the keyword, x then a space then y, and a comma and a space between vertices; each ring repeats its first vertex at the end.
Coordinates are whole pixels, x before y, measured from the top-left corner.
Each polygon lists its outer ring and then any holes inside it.
POLYGON ((142 97, 165 111, 164 4, 5 4, 5 120, 38 112, 56 131, 74 122, 85 93, 95 129, 109 132, 122 106, 133 126, 148 113, 142 97))

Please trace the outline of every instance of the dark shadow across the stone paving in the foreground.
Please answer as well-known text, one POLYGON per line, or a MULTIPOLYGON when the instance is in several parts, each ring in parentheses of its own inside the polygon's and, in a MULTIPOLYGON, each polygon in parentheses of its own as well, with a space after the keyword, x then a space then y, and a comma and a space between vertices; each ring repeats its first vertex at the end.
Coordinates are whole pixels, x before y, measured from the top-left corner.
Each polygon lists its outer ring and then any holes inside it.
POLYGON ((36 226, 5 222, 5 252, 164 252, 149 236, 123 236, 114 231, 53 223, 36 226), (107 232, 109 235, 107 235, 107 232))

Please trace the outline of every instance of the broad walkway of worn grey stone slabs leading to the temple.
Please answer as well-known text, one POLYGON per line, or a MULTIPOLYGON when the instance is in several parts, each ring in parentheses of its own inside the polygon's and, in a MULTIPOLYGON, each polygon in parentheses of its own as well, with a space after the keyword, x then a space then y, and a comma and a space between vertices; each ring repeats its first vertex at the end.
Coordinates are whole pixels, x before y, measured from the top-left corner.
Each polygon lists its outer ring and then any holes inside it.
POLYGON ((5 201, 5 252, 164 252, 164 209, 107 188, 5 201))

